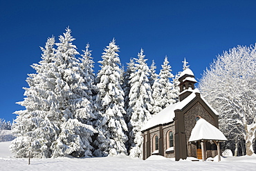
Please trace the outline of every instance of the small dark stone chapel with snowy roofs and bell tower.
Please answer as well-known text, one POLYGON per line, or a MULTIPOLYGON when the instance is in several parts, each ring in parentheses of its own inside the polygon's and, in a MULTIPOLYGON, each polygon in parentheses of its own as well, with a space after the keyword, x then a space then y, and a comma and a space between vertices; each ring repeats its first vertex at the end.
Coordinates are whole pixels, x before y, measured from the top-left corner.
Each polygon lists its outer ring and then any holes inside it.
MULTIPOLYGON (((196 79, 190 68, 179 77, 179 102, 168 106, 143 126, 143 159, 151 155, 180 159, 202 159, 220 155, 218 113, 194 88, 196 79)), ((219 157, 220 159, 220 157, 219 157)))

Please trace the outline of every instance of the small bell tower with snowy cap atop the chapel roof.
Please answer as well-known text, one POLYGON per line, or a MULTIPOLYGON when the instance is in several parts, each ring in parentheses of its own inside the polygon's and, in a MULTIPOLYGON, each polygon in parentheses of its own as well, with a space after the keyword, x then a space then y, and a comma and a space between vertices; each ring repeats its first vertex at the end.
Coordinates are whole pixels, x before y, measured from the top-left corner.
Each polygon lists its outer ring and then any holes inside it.
POLYGON ((188 97, 192 90, 194 90, 194 84, 197 83, 196 79, 194 79, 194 73, 190 68, 185 68, 179 77, 180 81, 180 101, 183 101, 186 97, 188 97))

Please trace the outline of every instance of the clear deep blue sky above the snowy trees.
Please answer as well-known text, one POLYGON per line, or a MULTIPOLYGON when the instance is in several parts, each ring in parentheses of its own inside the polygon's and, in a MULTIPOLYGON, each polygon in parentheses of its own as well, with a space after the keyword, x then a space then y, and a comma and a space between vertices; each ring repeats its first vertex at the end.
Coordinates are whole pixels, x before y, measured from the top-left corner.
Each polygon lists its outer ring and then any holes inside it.
MULTIPOLYGON (((12 121, 15 104, 24 99, 22 87, 41 60, 39 46, 69 26, 82 53, 90 43, 95 72, 103 48, 115 37, 120 60, 145 50, 148 63, 161 69, 167 55, 173 74, 184 57, 197 79, 223 50, 256 42, 256 1, 0 1, 0 118, 12 121)), ((158 71, 157 71, 158 72, 158 71)))

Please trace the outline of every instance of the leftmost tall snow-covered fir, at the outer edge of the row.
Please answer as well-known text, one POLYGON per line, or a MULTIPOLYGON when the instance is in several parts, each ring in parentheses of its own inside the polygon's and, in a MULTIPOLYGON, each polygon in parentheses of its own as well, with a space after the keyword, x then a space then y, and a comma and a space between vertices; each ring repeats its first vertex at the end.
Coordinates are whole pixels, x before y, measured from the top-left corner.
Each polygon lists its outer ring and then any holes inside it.
POLYGON ((52 79, 55 57, 54 37, 49 38, 43 51, 42 61, 34 64, 37 74, 28 74, 29 88, 24 88, 24 101, 18 104, 26 107, 26 110, 15 112, 18 114, 12 126, 12 132, 17 137, 12 141, 10 150, 15 152, 15 157, 28 157, 31 150, 32 157, 51 157, 51 144, 56 140, 59 128, 51 119, 54 115, 55 105, 54 79, 52 79))

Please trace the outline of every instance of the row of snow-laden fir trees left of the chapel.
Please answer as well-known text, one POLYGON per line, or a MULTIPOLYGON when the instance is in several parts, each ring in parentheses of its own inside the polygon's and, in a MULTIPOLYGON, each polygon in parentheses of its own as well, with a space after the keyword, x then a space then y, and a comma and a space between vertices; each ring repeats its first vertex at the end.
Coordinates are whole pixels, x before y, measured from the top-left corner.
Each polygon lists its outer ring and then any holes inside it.
MULTIPOLYGON (((122 68, 115 39, 104 48, 100 70, 94 73, 89 44, 83 54, 72 43, 71 29, 48 38, 42 60, 28 74, 26 109, 15 112, 16 157, 104 157, 129 154, 140 157, 140 128, 154 114, 178 101, 178 80, 167 57, 156 74, 143 49, 122 68), (79 57, 77 57, 79 55, 79 57)), ((186 65, 186 63, 185 63, 186 65)))

